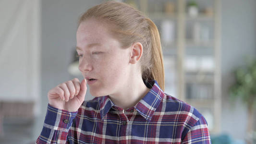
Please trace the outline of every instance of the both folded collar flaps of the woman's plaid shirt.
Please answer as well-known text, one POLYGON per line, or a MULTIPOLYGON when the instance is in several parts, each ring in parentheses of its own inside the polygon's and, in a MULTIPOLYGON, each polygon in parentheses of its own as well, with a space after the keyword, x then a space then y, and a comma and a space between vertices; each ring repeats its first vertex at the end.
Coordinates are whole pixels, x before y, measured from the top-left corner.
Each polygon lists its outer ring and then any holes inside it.
MULTIPOLYGON (((158 108, 158 105, 163 99, 164 92, 159 87, 156 80, 146 83, 147 87, 151 87, 150 91, 144 96, 134 108, 146 120, 150 121, 153 113, 158 108)), ((102 96, 100 100, 100 116, 101 119, 109 112, 114 103, 110 100, 109 96, 102 96)))

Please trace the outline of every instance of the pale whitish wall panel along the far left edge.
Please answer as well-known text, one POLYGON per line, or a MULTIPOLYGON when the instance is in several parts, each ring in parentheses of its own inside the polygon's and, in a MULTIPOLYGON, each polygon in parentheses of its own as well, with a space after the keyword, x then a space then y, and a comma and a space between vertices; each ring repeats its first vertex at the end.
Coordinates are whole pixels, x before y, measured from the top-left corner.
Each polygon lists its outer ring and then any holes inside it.
POLYGON ((41 98, 39 0, 0 1, 0 101, 35 102, 41 98))

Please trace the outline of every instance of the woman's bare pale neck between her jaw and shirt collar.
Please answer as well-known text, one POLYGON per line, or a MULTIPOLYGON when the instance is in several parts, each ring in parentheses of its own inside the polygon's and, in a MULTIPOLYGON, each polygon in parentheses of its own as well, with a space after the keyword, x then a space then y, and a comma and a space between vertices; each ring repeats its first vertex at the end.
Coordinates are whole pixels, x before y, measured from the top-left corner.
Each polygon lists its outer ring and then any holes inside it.
POLYGON ((122 87, 119 93, 110 95, 112 102, 123 109, 134 107, 150 89, 146 87, 142 78, 129 79, 129 84, 122 87), (138 81, 139 79, 139 81, 138 81))

